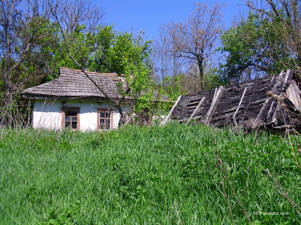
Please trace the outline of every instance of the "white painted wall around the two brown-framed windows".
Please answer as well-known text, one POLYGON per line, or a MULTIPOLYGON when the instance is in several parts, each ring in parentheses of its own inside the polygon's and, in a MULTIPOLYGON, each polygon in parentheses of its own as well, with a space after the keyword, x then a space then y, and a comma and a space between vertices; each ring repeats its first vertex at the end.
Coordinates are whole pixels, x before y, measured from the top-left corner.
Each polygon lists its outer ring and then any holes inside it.
MULTIPOLYGON (((97 129, 97 109, 113 109, 113 129, 118 128, 120 113, 116 106, 109 102, 96 100, 66 100, 65 104, 61 100, 37 99, 33 104, 33 128, 48 128, 60 130, 62 128, 62 110, 61 107, 80 107, 79 109, 79 127, 81 131, 95 131, 97 129)), ((122 106, 123 112, 131 108, 122 106)))

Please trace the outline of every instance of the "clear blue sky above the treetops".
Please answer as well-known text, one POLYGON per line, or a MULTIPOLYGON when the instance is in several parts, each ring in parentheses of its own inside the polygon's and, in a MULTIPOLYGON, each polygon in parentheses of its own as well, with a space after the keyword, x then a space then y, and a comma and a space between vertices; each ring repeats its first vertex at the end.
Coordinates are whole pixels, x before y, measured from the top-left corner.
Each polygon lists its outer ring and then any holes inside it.
MULTIPOLYGON (((195 0, 92 0, 93 4, 105 10, 104 24, 115 24, 114 29, 117 31, 130 31, 131 28, 135 32, 144 30, 149 39, 157 36, 161 25, 171 20, 185 21, 188 19, 191 12, 196 8, 195 2, 195 0)), ((228 6, 222 10, 227 27, 231 26, 234 16, 238 16, 239 12, 247 11, 247 7, 241 0, 198 2, 209 6, 216 3, 228 3, 228 6)))

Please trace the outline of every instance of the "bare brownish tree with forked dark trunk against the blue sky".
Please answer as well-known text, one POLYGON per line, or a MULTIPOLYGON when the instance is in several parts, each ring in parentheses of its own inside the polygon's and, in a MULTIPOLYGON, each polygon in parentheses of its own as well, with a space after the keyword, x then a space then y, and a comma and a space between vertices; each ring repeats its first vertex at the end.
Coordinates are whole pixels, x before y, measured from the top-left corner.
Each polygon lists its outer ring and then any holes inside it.
POLYGON ((196 63, 199 69, 200 89, 204 84, 204 61, 214 53, 216 44, 222 34, 222 5, 216 4, 212 9, 205 4, 197 4, 186 23, 171 22, 169 32, 172 51, 177 57, 188 59, 187 63, 196 63))

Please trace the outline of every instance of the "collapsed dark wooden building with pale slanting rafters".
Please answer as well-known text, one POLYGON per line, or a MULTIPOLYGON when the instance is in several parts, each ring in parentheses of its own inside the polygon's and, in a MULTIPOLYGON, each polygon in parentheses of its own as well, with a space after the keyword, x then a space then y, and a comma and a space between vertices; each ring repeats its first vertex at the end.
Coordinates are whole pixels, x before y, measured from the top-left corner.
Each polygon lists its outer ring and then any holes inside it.
POLYGON ((165 123, 171 120, 245 128, 300 127, 299 76, 283 70, 238 84, 179 96, 165 123))

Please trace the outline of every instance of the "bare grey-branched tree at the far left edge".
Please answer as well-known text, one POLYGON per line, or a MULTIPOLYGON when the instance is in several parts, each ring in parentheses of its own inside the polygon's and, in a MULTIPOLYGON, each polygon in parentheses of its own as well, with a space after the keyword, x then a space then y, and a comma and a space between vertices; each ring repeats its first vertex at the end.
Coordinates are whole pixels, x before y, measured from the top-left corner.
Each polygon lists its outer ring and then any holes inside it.
POLYGON ((0 104, 2 125, 12 123, 12 117, 7 114, 13 110, 14 96, 28 79, 36 79, 22 77, 19 67, 39 47, 38 40, 45 35, 40 29, 49 17, 44 1, 0 0, 0 78, 5 92, 0 104))

